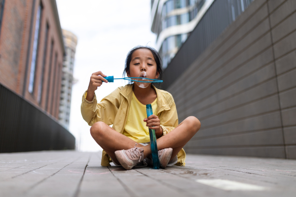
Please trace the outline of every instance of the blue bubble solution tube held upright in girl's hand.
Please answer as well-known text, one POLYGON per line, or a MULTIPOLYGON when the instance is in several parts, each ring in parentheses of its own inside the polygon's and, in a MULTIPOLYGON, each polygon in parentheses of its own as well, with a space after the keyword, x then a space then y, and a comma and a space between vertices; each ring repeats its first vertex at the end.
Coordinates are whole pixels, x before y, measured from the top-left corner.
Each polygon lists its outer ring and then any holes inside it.
MULTIPOLYGON (((147 112, 147 117, 149 117, 153 114, 151 104, 146 105, 146 112, 147 112)), ((153 169, 159 169, 159 159, 158 159, 158 150, 157 150, 157 144, 156 144, 155 130, 149 129, 149 137, 150 137, 153 169)))

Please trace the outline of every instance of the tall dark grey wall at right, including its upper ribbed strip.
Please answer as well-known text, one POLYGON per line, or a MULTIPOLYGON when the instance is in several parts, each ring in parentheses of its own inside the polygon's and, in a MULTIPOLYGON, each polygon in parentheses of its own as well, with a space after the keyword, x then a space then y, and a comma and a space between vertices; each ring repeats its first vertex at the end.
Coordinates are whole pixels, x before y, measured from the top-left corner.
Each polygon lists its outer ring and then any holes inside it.
POLYGON ((164 71, 187 153, 296 159, 296 1, 254 0, 229 24, 215 0, 164 71))

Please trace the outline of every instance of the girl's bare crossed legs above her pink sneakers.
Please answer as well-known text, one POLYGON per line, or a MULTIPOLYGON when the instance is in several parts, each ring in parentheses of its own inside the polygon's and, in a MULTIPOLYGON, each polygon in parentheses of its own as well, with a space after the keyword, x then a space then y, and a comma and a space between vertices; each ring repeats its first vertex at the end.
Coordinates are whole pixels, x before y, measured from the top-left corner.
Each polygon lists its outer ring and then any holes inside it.
MULTIPOLYGON (((173 159, 199 129, 199 120, 190 116, 180 123, 173 131, 158 138, 156 140, 157 149, 172 148, 173 153, 171 159, 173 159)), ((115 131, 103 122, 96 122, 90 128, 90 133, 94 140, 117 164, 119 164, 119 162, 117 161, 114 152, 117 150, 133 148, 137 143, 127 136, 115 131)), ((143 146, 137 143, 136 147, 142 147, 144 149, 144 158, 151 154, 150 146, 143 146)))

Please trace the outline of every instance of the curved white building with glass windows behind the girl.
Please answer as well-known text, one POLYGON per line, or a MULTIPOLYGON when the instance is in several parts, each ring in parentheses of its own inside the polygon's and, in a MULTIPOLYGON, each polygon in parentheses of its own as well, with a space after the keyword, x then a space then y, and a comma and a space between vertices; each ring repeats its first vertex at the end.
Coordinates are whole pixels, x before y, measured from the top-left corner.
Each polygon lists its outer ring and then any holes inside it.
MULTIPOLYGON (((228 0, 234 21, 252 0, 228 0)), ((175 57, 214 0, 151 0, 151 31, 156 33, 163 68, 175 57)))

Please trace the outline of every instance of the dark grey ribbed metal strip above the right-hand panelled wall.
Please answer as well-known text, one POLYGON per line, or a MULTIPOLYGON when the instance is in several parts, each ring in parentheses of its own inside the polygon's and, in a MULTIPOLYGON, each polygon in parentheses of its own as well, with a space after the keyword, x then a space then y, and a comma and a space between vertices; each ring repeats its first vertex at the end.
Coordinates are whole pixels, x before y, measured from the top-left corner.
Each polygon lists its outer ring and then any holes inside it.
POLYGON ((166 90, 253 0, 215 0, 163 73, 166 90))

